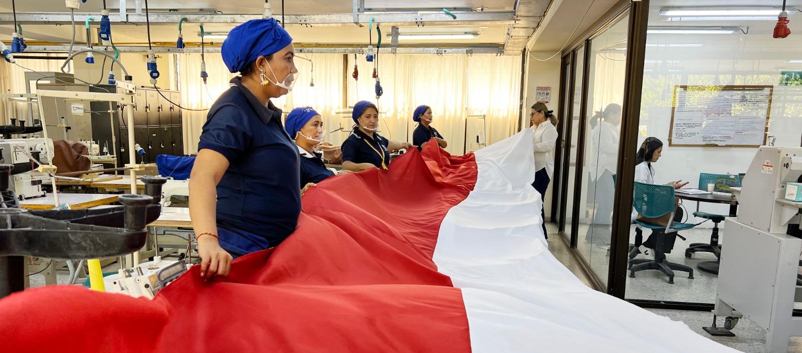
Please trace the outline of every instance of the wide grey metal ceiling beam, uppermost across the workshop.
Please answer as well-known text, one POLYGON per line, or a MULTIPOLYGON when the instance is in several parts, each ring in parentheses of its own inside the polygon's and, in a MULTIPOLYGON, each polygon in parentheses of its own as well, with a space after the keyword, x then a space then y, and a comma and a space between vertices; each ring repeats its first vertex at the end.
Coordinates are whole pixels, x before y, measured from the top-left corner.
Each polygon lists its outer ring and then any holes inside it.
MULTIPOLYGON (((473 24, 483 23, 512 24, 515 23, 512 11, 495 12, 466 12, 458 13, 457 19, 452 19, 447 14, 418 14, 409 12, 386 12, 380 14, 302 14, 285 15, 287 25, 347 25, 357 22, 368 22, 374 18, 374 22, 381 24, 394 23, 435 23, 435 24, 473 24)), ((98 14, 81 13, 75 14, 75 22, 83 23, 89 17, 99 18, 98 14)), ((144 14, 109 14, 111 22, 127 22, 132 24, 145 24, 144 14)), ((181 12, 156 12, 151 13, 151 23, 178 23, 181 18, 187 18, 190 23, 243 23, 254 18, 262 18, 261 14, 187 14, 181 12)), ((53 13, 18 13, 17 22, 22 25, 42 25, 42 24, 69 24, 70 14, 64 12, 53 13)), ((97 22, 97 21, 95 21, 97 22)), ((0 24, 8 25, 14 23, 14 14, 0 14, 0 24)))

